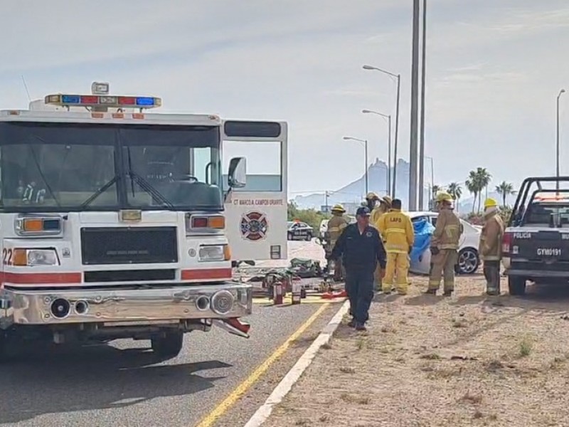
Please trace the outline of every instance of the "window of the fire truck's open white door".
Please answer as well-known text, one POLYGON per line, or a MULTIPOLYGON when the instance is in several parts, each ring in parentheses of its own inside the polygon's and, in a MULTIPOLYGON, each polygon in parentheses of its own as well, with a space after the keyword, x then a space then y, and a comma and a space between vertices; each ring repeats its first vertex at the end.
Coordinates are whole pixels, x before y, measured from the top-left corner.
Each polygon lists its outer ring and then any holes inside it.
POLYGON ((233 191, 282 191, 282 143, 278 141, 224 141, 223 189, 233 157, 247 159, 247 185, 233 191))

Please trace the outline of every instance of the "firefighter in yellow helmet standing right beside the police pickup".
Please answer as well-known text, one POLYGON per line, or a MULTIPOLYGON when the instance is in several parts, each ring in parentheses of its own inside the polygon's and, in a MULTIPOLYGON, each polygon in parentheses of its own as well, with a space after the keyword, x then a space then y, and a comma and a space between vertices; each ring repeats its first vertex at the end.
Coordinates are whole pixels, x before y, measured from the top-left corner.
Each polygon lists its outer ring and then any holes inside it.
POLYGON ((482 258, 486 294, 500 295, 501 240, 504 236, 504 222, 498 214, 498 202, 484 201, 484 226, 480 233, 478 253, 482 258))

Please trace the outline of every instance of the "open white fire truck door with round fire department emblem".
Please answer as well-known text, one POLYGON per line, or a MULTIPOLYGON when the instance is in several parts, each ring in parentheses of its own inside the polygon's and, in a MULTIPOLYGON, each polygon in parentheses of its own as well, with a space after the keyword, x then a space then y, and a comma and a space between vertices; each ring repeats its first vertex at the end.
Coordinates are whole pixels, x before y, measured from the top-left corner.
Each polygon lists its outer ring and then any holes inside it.
POLYGON ((223 122, 225 227, 234 261, 287 259, 287 123, 223 122), (228 186, 228 165, 245 157, 246 184, 228 186))

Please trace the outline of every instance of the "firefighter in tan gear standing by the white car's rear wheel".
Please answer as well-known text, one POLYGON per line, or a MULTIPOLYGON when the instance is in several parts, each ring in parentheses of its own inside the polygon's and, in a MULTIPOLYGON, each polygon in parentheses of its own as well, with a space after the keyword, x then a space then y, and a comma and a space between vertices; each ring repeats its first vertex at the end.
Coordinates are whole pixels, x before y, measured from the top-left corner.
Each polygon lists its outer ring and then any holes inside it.
POLYGON ((446 191, 437 194, 437 225, 432 232, 431 269, 427 294, 436 295, 443 280, 445 297, 450 297, 454 291, 454 265, 458 262, 458 247, 462 235, 462 224, 452 206, 452 196, 446 191))

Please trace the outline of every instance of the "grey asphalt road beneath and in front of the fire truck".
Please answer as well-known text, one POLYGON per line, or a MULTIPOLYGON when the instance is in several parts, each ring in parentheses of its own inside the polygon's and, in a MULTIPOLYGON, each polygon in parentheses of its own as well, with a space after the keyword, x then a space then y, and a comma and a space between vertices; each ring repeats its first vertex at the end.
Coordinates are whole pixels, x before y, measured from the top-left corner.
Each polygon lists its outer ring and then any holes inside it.
MULTIPOLYGON (((314 246, 292 242, 289 253, 309 256, 314 246)), ((166 362, 156 363, 145 341, 117 340, 108 346, 63 347, 49 353, 35 349, 16 363, 0 366, 0 425, 195 426, 320 306, 256 305, 248 317, 250 339, 217 328, 192 332, 186 334, 179 357, 166 362)), ((315 326, 324 325, 337 308, 329 307, 315 326)), ((311 333, 313 337, 314 330, 311 333)), ((306 341, 308 345, 310 339, 306 341)), ((272 382, 277 381, 272 374, 272 382)), ((277 376, 284 374, 286 369, 277 376)), ((263 393, 270 393, 270 387, 263 393)))

